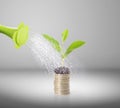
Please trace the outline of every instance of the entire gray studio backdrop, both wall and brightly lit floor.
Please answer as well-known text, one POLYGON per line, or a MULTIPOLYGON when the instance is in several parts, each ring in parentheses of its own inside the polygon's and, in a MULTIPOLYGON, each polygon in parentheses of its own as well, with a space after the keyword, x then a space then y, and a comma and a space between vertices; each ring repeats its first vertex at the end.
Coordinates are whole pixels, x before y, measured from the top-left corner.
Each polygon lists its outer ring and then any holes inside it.
POLYGON ((0 34, 0 108, 119 108, 120 0, 0 0, 0 24, 60 39, 68 28, 68 46, 86 45, 69 56, 73 69, 69 96, 56 96, 54 74, 38 65, 27 46, 14 48, 0 34))

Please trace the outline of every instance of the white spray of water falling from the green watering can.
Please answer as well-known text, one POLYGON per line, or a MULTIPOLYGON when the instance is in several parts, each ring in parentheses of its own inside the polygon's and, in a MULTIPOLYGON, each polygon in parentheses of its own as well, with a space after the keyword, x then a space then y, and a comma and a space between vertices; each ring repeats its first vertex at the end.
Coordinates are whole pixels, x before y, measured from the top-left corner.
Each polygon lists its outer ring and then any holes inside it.
MULTIPOLYGON (((33 34, 29 37, 27 46, 31 49, 33 56, 40 65, 43 65, 49 72, 61 66, 60 54, 40 34, 33 34)), ((68 63, 65 62, 65 66, 68 63)))

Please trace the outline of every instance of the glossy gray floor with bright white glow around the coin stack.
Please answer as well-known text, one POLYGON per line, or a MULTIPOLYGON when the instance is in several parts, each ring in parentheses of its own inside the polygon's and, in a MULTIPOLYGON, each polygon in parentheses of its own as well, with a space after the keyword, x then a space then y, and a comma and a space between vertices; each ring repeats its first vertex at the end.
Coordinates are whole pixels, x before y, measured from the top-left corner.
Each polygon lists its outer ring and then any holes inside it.
POLYGON ((120 72, 72 73, 70 79, 71 94, 68 96, 54 95, 53 80, 54 75, 46 72, 1 71, 0 104, 15 107, 19 105, 32 107, 32 105, 115 106, 119 104, 120 72), (17 102, 19 104, 16 104, 17 102))

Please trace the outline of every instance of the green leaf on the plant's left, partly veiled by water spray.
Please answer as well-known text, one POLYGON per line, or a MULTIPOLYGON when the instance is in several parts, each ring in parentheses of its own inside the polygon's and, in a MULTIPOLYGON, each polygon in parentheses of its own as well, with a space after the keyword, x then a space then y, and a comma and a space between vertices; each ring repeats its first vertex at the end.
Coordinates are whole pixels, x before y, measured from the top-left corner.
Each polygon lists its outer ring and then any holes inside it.
POLYGON ((55 48, 58 52, 61 51, 60 44, 56 39, 54 39, 52 36, 49 36, 47 34, 42 34, 42 35, 46 40, 48 40, 52 44, 53 48, 55 48))

